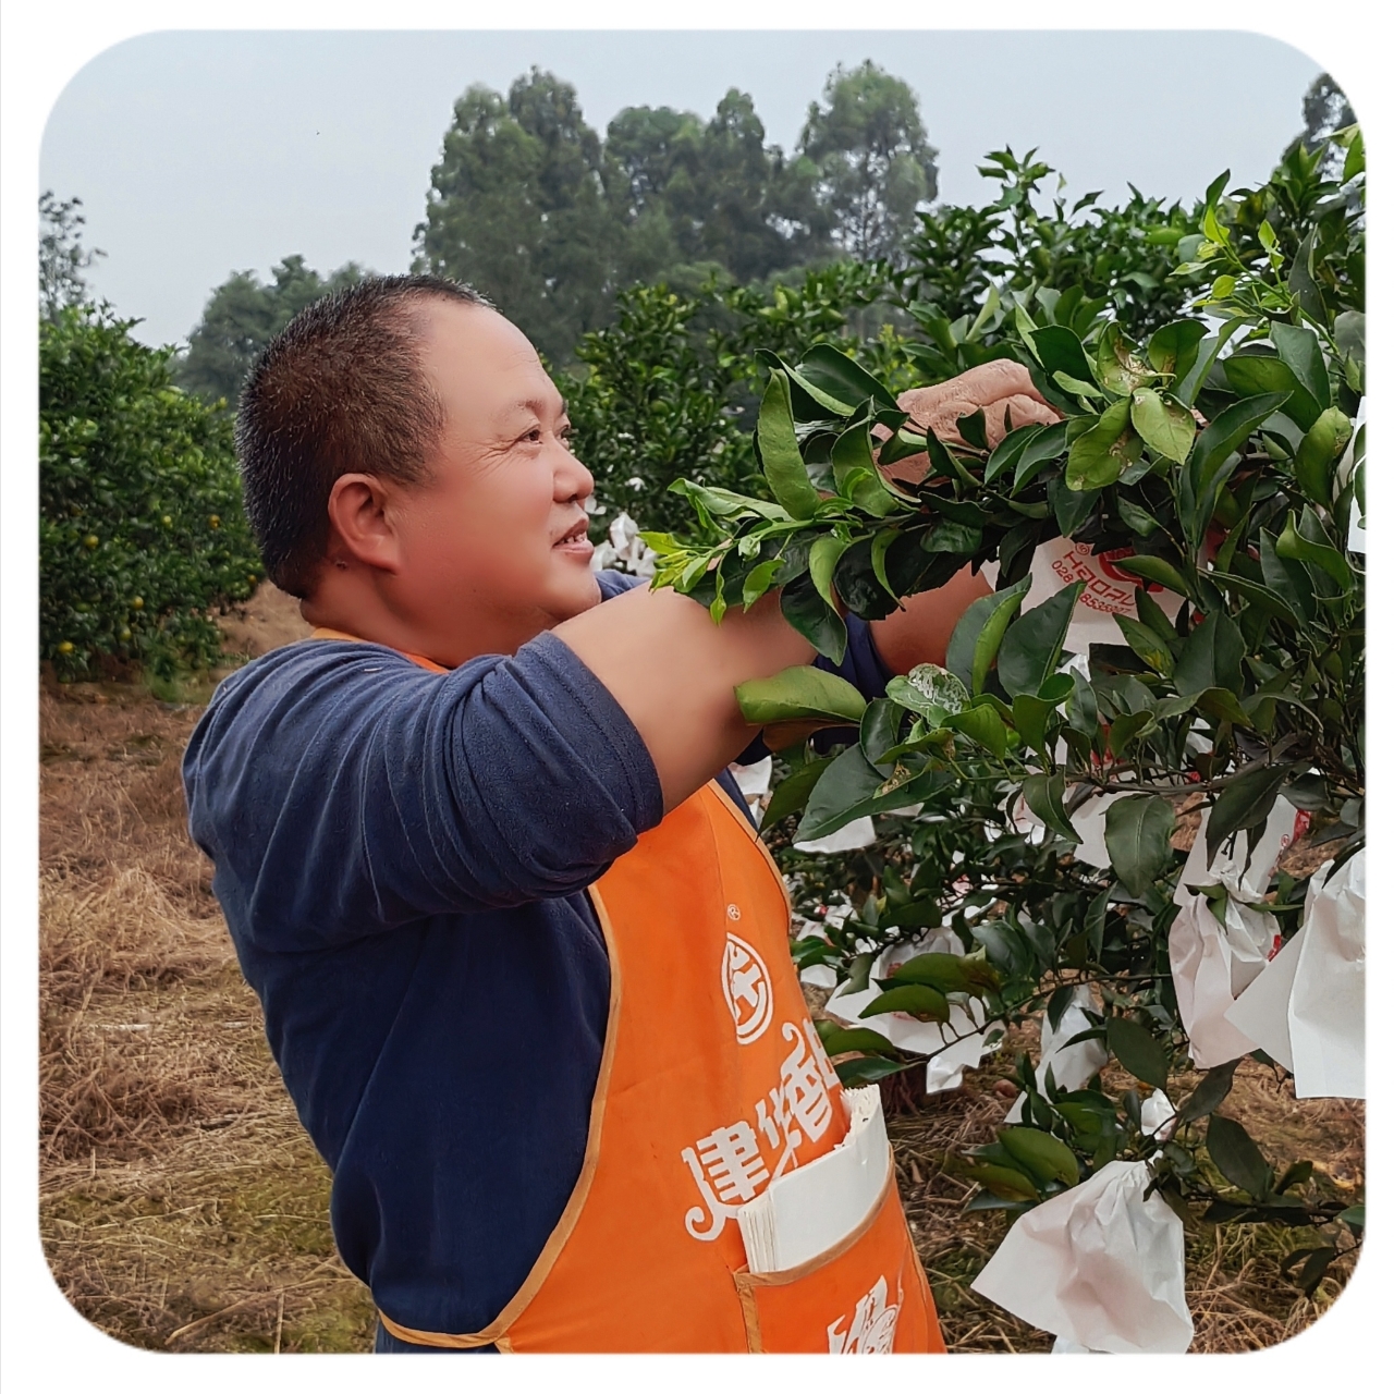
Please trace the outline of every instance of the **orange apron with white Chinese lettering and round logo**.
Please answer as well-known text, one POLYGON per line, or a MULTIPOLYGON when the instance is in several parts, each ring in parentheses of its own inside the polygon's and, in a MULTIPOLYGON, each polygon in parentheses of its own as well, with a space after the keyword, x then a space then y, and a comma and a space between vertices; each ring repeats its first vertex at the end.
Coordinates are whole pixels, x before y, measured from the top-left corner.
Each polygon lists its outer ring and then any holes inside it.
POLYGON ((590 896, 609 1018, 562 1218, 482 1331, 417 1331, 379 1313, 383 1326, 446 1349, 942 1351, 894 1167, 870 1214, 825 1253, 749 1271, 739 1207, 848 1133, 789 956, 783 878, 750 821, 708 783, 590 896))

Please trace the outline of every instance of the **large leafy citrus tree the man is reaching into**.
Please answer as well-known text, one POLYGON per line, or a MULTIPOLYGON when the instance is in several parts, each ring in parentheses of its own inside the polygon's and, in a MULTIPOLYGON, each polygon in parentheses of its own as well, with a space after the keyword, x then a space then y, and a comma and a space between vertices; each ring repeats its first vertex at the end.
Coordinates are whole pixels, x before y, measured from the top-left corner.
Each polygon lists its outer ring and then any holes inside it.
MULTIPOLYGON (((1075 1040, 1164 1090, 1193 1057, 1168 959, 1178 815, 1204 811, 1207 866, 1231 848, 1242 861, 1280 796, 1337 861, 1363 845, 1363 544, 1351 545, 1363 519, 1363 148, 1354 127, 1334 144, 1334 166, 1327 146, 1294 145, 1253 190, 1227 194, 1223 176, 1199 229, 1156 244, 1193 287, 1189 314, 1158 323, 1154 301, 1131 315, 1078 282, 987 284, 966 328, 1030 369, 1057 424, 988 449, 977 414, 958 424, 966 446, 947 445, 836 347, 797 361, 763 351, 754 450, 768 496, 677 481, 691 534, 647 535, 655 584, 717 619, 778 587, 789 622, 831 658, 845 611, 875 619, 965 565, 995 569, 945 668, 892 679, 881 700, 813 669, 739 693, 786 767, 767 822, 797 814, 799 835, 815 838, 919 806, 891 820, 866 902, 796 945, 804 966, 877 990, 866 1025, 824 1023, 848 1082, 923 1059, 875 1030, 885 1012, 948 1023, 976 1002, 976 1020, 1058 1027, 1090 986, 1075 1040), (912 456, 928 461, 919 484, 878 468, 912 456), (1124 643, 1071 655, 1082 583, 1023 609, 1037 549, 1061 537, 1128 579, 1124 643), (855 739, 815 754, 810 729, 849 725, 855 739), (1096 866, 1076 855, 1078 815, 1105 799, 1096 866), (963 952, 870 979, 882 949, 935 926, 963 952)), ((962 365, 952 337, 912 357, 948 376, 962 365)), ((1278 871, 1262 889, 1291 937, 1305 878, 1278 871)), ((1023 1057, 1020 1122, 962 1161, 981 1186, 973 1204, 1029 1209, 1114 1158, 1143 1160, 1184 1214, 1316 1227, 1299 1273, 1310 1291, 1358 1242, 1363 1210, 1316 1186, 1309 1163, 1276 1172, 1221 1111, 1234 1065, 1211 1068, 1158 1129, 1136 1087, 1110 1094, 1096 1073, 1062 1089, 1023 1057)))

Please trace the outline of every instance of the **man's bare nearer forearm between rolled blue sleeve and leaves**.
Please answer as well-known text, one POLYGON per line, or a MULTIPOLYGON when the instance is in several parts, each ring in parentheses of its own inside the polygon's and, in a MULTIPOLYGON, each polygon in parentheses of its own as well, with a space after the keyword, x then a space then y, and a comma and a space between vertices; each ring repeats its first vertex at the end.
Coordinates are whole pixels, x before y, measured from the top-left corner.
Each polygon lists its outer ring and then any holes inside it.
POLYGON ((672 590, 636 588, 552 633, 609 689, 648 747, 675 809, 750 744, 757 730, 735 689, 814 658, 771 592, 719 625, 672 590))

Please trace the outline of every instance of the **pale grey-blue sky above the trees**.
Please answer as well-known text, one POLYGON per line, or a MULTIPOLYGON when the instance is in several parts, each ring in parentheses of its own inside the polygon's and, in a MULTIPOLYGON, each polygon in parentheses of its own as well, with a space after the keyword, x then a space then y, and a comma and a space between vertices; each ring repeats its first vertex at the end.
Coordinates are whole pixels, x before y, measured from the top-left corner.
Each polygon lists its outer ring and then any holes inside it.
POLYGON ((863 59, 917 91, 940 197, 956 204, 991 195, 976 166, 1004 144, 1037 146, 1069 195, 1110 202, 1129 181, 1192 199, 1227 167, 1262 180, 1320 71, 1280 40, 1213 32, 166 32, 72 78, 40 187, 82 198, 86 241, 107 252, 98 294, 141 316, 142 339, 174 343, 233 270, 268 279, 293 252, 321 272, 406 270, 471 82, 506 91, 551 70, 601 134, 626 106, 711 116, 737 86, 788 151, 831 68, 863 59))

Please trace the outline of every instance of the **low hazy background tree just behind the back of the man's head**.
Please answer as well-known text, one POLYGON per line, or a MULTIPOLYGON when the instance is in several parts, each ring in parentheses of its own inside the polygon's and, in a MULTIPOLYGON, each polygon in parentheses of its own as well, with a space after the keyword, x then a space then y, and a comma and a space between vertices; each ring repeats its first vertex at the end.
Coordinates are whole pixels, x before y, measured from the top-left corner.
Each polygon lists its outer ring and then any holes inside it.
POLYGON ((234 272, 204 308, 204 318, 188 336, 188 353, 176 365, 174 381, 205 401, 236 404, 262 348, 301 309, 364 275, 357 262, 347 262, 321 276, 300 255, 273 266, 269 284, 254 270, 234 272))

